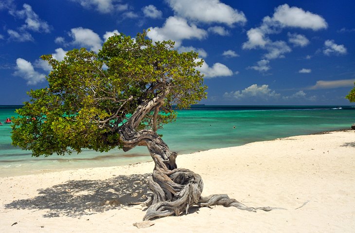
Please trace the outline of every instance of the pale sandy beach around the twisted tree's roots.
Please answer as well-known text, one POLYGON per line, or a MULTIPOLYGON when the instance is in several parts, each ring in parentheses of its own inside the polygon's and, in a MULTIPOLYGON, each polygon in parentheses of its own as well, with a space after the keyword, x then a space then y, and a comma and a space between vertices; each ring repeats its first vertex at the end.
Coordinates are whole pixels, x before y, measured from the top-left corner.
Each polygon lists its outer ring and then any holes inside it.
POLYGON ((255 142, 179 155, 204 181, 256 213, 212 206, 138 229, 153 162, 0 178, 0 232, 355 232, 355 131, 255 142))

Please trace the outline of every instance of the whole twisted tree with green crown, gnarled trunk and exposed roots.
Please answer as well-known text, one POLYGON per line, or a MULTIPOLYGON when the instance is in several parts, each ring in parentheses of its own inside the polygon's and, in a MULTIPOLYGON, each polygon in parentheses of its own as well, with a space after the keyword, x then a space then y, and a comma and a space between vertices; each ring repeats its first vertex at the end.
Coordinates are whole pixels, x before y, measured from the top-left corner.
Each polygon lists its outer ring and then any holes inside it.
POLYGON ((63 61, 43 55, 52 67, 49 87, 31 90, 31 100, 17 110, 13 144, 36 157, 146 146, 155 167, 143 220, 187 213, 193 205, 271 210, 247 207, 227 195, 201 197, 201 177, 177 168, 177 153, 157 129, 176 118, 172 105, 187 108, 206 97, 196 70, 203 61, 195 52, 178 53, 172 41, 153 43, 145 36, 114 35, 98 54, 74 49, 63 61))

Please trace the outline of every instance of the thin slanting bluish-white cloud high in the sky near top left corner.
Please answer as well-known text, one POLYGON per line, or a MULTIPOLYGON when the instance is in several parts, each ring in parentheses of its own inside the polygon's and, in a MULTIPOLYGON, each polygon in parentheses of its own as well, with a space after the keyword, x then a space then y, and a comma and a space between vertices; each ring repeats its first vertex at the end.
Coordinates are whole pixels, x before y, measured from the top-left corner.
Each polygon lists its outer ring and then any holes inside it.
POLYGON ((41 20, 29 4, 23 4, 23 10, 11 11, 10 14, 18 18, 25 18, 25 24, 20 27, 20 30, 31 30, 34 32, 45 33, 49 33, 51 31, 48 23, 41 20))

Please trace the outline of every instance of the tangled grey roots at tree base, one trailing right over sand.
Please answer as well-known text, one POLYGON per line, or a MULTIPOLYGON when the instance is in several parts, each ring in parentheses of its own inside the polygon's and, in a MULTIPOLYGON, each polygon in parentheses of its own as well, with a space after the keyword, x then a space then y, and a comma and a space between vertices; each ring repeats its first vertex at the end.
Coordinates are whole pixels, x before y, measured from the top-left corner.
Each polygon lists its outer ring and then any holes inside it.
POLYGON ((180 168, 163 173, 155 170, 153 178, 148 180, 148 185, 153 191, 153 198, 147 204, 147 206, 149 204, 150 206, 143 220, 174 214, 180 215, 183 212, 187 214, 189 207, 193 205, 200 207, 212 205, 234 206, 240 210, 252 212, 256 212, 256 210, 270 211, 276 209, 271 207, 248 207, 236 199, 228 197, 228 195, 201 197, 203 190, 202 179, 198 174, 188 169, 180 168), (171 185, 171 182, 166 182, 166 180, 173 181, 174 185, 171 185))

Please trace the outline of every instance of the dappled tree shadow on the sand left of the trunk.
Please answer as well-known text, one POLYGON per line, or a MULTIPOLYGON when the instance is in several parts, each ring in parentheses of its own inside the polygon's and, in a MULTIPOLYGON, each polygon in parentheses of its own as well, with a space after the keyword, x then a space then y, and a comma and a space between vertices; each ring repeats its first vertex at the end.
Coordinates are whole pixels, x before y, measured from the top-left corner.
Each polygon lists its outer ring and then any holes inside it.
POLYGON ((116 176, 106 180, 69 180, 39 189, 38 196, 5 204, 8 209, 48 210, 44 217, 80 217, 110 209, 127 208, 146 200, 147 178, 152 174, 116 176))

